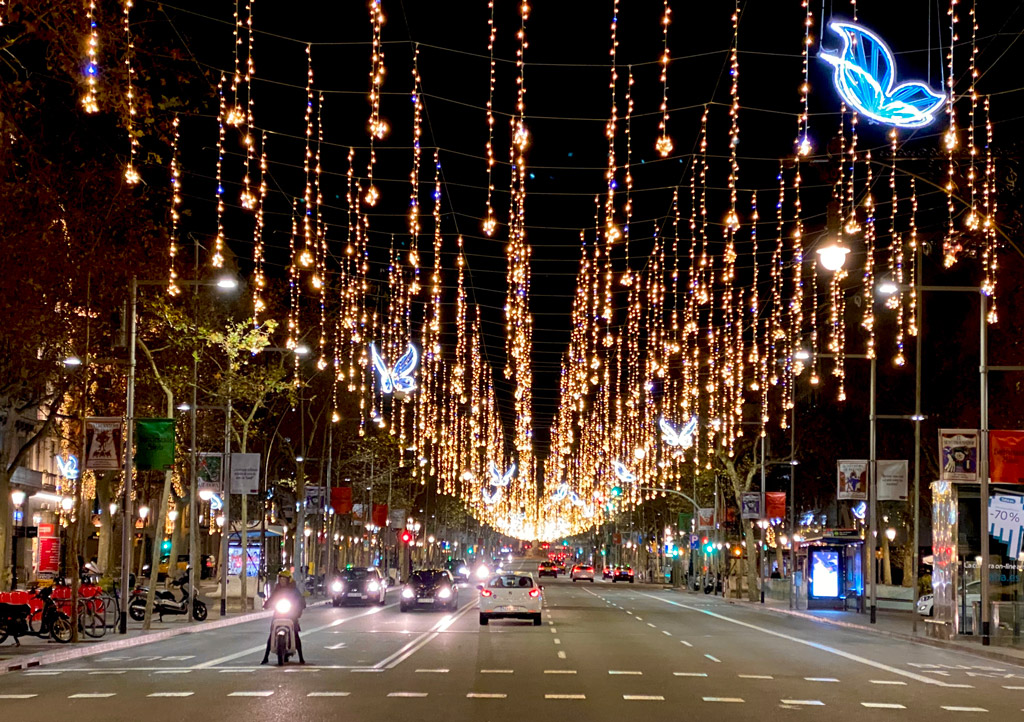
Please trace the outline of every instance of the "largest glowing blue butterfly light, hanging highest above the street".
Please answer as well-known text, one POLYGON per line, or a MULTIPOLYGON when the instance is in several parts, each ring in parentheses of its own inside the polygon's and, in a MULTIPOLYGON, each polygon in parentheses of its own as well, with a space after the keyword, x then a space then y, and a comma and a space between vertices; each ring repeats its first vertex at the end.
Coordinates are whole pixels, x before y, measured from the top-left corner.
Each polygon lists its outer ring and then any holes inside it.
POLYGON ((896 58, 878 35, 853 23, 828 28, 843 39, 836 55, 818 57, 836 69, 833 82, 857 113, 885 125, 921 128, 935 120, 946 96, 916 81, 896 84, 896 58))

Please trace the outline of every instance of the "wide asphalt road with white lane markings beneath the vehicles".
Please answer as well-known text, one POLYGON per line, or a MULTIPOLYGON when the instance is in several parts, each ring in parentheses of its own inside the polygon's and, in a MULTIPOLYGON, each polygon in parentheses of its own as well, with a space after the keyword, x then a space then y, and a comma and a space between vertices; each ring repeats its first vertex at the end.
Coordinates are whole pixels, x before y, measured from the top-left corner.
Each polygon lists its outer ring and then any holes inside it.
MULTIPOLYGON (((516 566, 536 569, 535 562, 516 566)), ((4 719, 945 720, 1024 710, 1024 668, 643 585, 545 580, 544 625, 312 607, 305 666, 268 623, 0 676, 4 719)))

